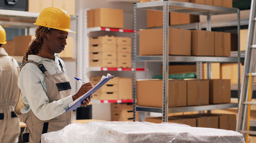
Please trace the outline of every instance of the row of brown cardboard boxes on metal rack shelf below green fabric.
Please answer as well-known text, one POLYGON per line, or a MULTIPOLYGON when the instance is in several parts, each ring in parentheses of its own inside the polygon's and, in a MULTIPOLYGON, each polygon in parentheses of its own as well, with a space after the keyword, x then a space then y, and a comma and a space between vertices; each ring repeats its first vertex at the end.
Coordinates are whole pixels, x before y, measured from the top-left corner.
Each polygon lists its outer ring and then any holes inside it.
MULTIPOLYGON (((162 107, 162 80, 137 80, 137 105, 162 107)), ((230 80, 169 79, 168 107, 230 103, 230 80)))

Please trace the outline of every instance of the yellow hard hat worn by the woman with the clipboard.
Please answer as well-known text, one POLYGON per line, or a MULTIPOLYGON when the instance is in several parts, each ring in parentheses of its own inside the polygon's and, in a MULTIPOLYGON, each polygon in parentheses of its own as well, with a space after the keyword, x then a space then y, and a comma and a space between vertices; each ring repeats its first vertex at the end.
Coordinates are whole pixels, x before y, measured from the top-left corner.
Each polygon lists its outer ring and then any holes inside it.
POLYGON ((54 28, 61 31, 73 32, 70 30, 69 13, 58 8, 45 8, 39 14, 34 24, 38 26, 54 28))

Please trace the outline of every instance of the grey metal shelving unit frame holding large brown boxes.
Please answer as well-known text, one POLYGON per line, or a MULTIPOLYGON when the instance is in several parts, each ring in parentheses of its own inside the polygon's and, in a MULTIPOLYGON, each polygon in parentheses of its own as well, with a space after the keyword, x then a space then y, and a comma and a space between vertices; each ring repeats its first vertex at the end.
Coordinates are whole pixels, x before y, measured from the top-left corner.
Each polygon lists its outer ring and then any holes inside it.
MULTIPOLYGON (((232 22, 232 24, 234 24, 232 22)), ((227 24, 227 23, 225 23, 227 24)), ((177 28, 191 28, 194 26, 196 29, 202 28, 199 23, 188 24, 188 25, 178 25, 177 28)), ((218 25, 220 26, 220 25, 218 25)), ((170 26, 172 27, 172 26, 170 26)), ((175 27, 175 26, 173 26, 175 27)), ((193 29, 193 28, 191 28, 193 29)), ((222 109, 238 107, 237 103, 228 104, 213 104, 205 106, 186 106, 186 107, 168 107, 168 62, 207 62, 207 77, 210 76, 210 62, 236 62, 239 64, 239 84, 238 92, 240 92, 240 10, 236 8, 225 8, 218 6, 201 5, 194 3, 184 3, 176 1, 156 1, 156 2, 145 2, 134 4, 134 41, 133 41, 133 56, 134 61, 148 61, 148 62, 163 62, 163 104, 162 108, 157 107, 142 107, 136 106, 136 71, 133 71, 133 99, 134 99, 134 121, 135 121, 135 111, 148 111, 148 112, 160 112, 162 113, 163 122, 167 122, 167 115, 170 112, 185 112, 185 111, 201 111, 201 110, 211 110, 211 109, 222 109), (163 55, 162 56, 138 56, 136 54, 137 46, 137 9, 144 10, 159 10, 163 11, 163 55), (194 15, 206 15, 207 22, 205 25, 207 31, 211 31, 211 15, 219 14, 238 14, 238 20, 236 25, 238 27, 238 52, 236 57, 212 57, 212 56, 176 56, 168 55, 168 14, 169 12, 179 12, 194 15)), ((136 68, 136 62, 134 62, 133 68, 136 68)))

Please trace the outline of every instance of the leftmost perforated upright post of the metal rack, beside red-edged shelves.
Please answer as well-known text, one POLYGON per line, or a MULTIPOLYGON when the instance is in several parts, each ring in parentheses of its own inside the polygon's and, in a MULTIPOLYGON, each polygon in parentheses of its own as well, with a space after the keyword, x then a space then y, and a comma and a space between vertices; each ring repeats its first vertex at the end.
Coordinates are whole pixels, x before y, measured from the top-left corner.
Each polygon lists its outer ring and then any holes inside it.
POLYGON ((137 41, 137 4, 133 5, 133 121, 136 119, 136 41, 137 41))

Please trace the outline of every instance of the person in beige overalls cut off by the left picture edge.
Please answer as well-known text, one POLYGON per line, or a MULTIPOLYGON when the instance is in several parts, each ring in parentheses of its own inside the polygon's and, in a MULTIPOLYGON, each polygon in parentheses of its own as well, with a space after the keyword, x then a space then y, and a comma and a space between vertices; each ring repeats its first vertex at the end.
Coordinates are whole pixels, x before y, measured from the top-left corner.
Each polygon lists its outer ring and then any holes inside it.
POLYGON ((16 60, 2 48, 6 43, 6 33, 0 25, 0 142, 18 142, 20 126, 14 106, 19 95, 19 70, 16 60))

